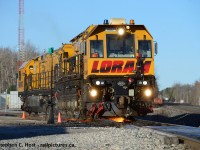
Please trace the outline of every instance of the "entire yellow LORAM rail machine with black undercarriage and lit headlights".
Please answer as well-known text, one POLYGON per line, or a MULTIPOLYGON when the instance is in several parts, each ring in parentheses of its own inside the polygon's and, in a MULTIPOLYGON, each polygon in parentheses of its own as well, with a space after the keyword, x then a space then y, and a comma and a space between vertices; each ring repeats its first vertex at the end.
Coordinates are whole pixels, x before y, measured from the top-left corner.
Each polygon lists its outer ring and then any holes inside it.
POLYGON ((71 44, 22 65, 22 109, 40 112, 51 103, 70 117, 145 115, 152 111, 156 91, 155 47, 145 26, 133 20, 91 25, 71 44), (37 107, 30 105, 33 101, 37 107))

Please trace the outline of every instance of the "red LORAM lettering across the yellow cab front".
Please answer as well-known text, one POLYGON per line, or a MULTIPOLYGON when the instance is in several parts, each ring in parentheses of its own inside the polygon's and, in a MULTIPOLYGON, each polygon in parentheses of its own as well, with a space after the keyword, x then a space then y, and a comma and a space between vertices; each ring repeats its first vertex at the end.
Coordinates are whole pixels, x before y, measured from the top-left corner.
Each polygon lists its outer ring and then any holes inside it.
MULTIPOLYGON (((149 72, 151 62, 145 62, 145 73, 149 72)), ((133 73, 134 61, 105 60, 102 62, 94 61, 91 73, 133 73)))

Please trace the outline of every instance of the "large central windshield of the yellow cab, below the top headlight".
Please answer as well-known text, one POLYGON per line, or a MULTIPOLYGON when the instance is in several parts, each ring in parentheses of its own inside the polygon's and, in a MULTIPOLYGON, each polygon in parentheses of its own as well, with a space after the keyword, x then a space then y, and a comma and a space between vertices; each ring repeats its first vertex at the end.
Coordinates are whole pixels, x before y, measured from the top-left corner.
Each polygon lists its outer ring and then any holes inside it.
POLYGON ((108 58, 135 57, 133 35, 126 34, 121 37, 115 34, 107 34, 106 40, 108 58))

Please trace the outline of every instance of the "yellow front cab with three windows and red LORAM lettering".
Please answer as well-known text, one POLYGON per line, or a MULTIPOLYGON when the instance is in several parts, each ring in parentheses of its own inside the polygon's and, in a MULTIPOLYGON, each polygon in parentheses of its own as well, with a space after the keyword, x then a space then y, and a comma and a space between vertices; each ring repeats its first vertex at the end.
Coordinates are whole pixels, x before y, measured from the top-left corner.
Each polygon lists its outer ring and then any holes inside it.
POLYGON ((145 59, 145 74, 154 75, 153 38, 144 25, 111 19, 89 26, 71 40, 84 54, 84 78, 89 75, 127 75, 136 69, 137 53, 145 59))

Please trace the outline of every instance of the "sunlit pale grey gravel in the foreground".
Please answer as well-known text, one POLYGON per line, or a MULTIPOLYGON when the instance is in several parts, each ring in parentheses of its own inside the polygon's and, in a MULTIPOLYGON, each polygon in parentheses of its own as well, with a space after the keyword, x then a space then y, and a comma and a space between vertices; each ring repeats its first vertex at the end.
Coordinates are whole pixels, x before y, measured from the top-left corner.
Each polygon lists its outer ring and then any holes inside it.
POLYGON ((153 130, 125 126, 66 127, 64 134, 1 140, 0 149, 184 150, 189 148, 179 143, 166 144, 153 130))

